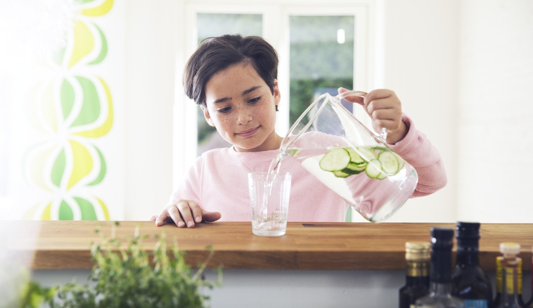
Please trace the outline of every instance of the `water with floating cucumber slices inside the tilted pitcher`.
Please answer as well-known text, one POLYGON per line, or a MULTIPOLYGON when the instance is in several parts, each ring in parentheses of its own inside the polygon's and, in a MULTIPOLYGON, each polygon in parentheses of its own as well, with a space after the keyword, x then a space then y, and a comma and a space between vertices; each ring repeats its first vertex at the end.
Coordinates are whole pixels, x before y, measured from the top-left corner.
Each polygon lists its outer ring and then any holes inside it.
POLYGON ((416 186, 415 169, 383 146, 288 148, 272 161, 272 177, 288 155, 371 222, 389 218, 416 186))

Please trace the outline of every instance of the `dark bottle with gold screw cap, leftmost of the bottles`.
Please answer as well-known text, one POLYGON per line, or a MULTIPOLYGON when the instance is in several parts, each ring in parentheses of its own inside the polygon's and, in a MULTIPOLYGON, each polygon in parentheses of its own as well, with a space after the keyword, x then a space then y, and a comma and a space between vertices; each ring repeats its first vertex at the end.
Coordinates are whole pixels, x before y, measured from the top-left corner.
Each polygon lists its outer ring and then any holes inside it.
POLYGON ((412 308, 415 301, 428 294, 430 288, 430 243, 405 243, 407 272, 405 286, 400 288, 400 308, 412 308))

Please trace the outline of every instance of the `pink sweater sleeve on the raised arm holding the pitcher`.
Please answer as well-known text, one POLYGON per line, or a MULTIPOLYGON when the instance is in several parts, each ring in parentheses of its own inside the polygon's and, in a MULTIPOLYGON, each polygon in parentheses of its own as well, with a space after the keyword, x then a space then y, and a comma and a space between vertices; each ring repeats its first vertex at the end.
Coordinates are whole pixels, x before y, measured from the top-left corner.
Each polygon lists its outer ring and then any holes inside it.
POLYGON ((406 114, 402 115, 402 120, 408 126, 407 135, 396 144, 388 146, 412 165, 418 174, 418 184, 411 197, 433 194, 445 187, 448 181, 439 151, 415 128, 406 114))

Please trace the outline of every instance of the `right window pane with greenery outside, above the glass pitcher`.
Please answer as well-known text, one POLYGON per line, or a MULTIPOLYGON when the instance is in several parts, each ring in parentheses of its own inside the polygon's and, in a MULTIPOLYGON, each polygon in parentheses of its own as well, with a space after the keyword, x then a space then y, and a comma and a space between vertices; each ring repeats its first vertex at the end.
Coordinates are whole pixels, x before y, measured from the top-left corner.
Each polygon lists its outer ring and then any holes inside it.
MULTIPOLYGON (((322 93, 353 87, 354 16, 290 16, 289 124, 322 93)), ((345 104, 352 111, 352 104, 345 104)))

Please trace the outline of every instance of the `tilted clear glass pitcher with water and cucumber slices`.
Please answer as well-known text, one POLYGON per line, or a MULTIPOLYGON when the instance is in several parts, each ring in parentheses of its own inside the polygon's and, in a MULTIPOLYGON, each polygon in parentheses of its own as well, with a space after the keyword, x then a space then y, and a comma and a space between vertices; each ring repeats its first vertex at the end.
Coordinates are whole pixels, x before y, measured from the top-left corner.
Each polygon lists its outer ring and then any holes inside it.
POLYGON ((418 176, 386 146, 385 129, 377 135, 341 104, 344 97, 364 95, 360 91, 322 94, 289 129, 278 160, 293 156, 362 217, 381 222, 407 201, 418 176))

